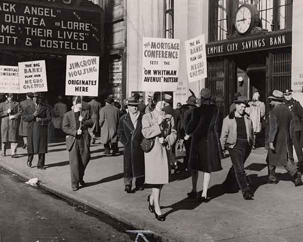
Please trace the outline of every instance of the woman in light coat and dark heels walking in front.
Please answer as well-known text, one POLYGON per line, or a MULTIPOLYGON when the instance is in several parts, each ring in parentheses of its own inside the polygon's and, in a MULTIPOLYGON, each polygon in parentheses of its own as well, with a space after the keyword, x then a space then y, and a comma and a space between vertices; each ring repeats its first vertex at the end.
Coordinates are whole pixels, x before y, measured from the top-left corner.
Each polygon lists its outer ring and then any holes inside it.
POLYGON ((169 182, 170 150, 177 139, 173 116, 162 110, 168 105, 164 98, 164 93, 155 92, 155 109, 142 117, 143 136, 154 139, 152 150, 144 153, 145 184, 152 189, 148 196, 148 208, 159 221, 165 221, 160 209, 160 193, 163 185, 169 182))

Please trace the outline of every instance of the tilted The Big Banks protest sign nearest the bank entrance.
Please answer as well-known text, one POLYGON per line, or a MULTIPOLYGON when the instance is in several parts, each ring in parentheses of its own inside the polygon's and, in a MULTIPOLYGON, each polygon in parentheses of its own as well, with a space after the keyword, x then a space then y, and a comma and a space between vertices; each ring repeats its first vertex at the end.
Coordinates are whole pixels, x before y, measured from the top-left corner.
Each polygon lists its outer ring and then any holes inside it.
POLYGON ((189 82, 200 81, 207 77, 205 37, 200 35, 185 41, 187 76, 189 82))

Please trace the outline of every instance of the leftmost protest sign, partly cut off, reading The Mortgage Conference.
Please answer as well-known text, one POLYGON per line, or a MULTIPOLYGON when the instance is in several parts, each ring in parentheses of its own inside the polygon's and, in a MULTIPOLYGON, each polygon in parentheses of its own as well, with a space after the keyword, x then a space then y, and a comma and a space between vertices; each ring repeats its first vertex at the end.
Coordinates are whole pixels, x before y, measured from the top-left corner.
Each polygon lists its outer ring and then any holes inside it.
POLYGON ((0 66, 0 92, 20 93, 18 67, 0 66))

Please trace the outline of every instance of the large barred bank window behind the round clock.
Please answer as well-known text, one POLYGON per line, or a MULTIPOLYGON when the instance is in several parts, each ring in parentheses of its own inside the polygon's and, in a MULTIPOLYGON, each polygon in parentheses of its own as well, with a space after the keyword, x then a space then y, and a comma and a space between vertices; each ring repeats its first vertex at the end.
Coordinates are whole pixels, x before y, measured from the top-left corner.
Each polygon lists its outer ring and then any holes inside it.
POLYGON ((232 20, 242 4, 257 7, 262 28, 268 31, 292 28, 293 0, 209 0, 209 41, 226 39, 232 20))

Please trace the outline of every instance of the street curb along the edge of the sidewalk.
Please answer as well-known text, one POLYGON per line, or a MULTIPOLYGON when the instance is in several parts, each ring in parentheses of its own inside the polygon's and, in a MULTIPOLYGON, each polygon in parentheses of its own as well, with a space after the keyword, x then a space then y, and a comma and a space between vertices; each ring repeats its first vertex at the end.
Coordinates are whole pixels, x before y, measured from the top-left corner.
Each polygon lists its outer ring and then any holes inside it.
MULTIPOLYGON (((23 180, 27 181, 30 179, 28 176, 26 176, 22 172, 18 172, 16 170, 12 169, 11 167, 8 167, 2 163, 0 163, 0 168, 2 168, 3 171, 6 171, 8 173, 18 175, 23 180)), ((124 219, 122 216, 119 216, 119 215, 115 214, 114 212, 110 212, 110 211, 104 209, 106 207, 106 205, 104 205, 103 206, 104 208, 102 208, 100 206, 96 206, 93 203, 90 203, 87 200, 75 198, 75 197, 71 196, 70 194, 60 191, 59 189, 52 188, 47 183, 45 183, 41 180, 38 181, 37 186, 40 187, 41 189, 44 189, 44 190, 62 198, 63 200, 65 200, 67 202, 70 202, 72 204, 75 204, 75 205, 78 205, 78 206, 84 208, 85 210, 89 211, 90 213, 92 213, 93 215, 95 215, 97 217, 100 217, 100 216, 107 217, 106 222, 103 220, 104 223, 111 225, 116 230, 123 232, 125 234, 126 234, 126 231, 146 231, 148 233, 144 234, 144 235, 146 237, 152 239, 152 241, 155 241, 155 242, 175 241, 173 238, 169 238, 167 236, 160 235, 160 234, 152 232, 150 230, 144 230, 142 225, 138 225, 135 222, 130 222, 129 220, 124 219)), ((135 238, 134 234, 132 235, 132 234, 128 233, 128 235, 131 238, 135 238)))

